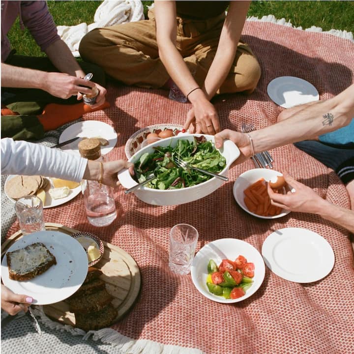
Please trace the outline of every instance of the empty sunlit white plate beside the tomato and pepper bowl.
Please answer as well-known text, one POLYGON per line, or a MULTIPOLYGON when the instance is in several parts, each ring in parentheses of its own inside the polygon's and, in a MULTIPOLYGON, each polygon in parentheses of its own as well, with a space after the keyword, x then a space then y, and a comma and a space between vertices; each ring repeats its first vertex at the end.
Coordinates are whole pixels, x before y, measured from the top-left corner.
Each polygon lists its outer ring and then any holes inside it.
POLYGON ((262 255, 272 272, 296 283, 320 280, 334 266, 330 244, 319 234, 302 228, 270 234, 263 243, 262 255))

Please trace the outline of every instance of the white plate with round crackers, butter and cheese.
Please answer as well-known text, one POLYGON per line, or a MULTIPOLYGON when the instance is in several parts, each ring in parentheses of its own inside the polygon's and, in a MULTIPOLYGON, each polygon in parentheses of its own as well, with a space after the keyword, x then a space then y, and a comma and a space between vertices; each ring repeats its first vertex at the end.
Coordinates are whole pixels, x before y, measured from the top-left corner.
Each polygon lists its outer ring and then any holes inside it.
POLYGON ((57 207, 81 192, 79 182, 44 176, 10 175, 6 178, 5 194, 13 203, 20 198, 36 195, 43 208, 57 207))

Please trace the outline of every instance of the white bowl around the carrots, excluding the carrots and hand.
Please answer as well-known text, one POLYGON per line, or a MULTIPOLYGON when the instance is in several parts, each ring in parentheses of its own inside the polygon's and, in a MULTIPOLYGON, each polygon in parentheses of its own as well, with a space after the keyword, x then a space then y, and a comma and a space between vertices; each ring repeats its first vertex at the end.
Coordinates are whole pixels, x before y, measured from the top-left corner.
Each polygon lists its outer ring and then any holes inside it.
MULTIPOLYGON (((253 213, 252 211, 248 210, 246 207, 243 199, 244 199, 244 194, 243 191, 250 186, 252 183, 258 181, 261 178, 264 178, 267 182, 274 176, 283 176, 280 172, 270 170, 270 169, 253 169, 253 170, 248 170, 244 172, 242 175, 240 175, 235 183, 234 183, 234 188, 233 188, 233 193, 235 200, 237 204, 245 211, 247 211, 249 214, 253 216, 257 216, 261 219, 276 219, 280 218, 284 215, 287 215, 290 213, 290 210, 285 210, 283 209, 282 212, 278 215, 274 216, 262 216, 253 213)), ((290 186, 289 186, 290 187, 290 186)), ((295 191, 295 190, 292 190, 295 191)))

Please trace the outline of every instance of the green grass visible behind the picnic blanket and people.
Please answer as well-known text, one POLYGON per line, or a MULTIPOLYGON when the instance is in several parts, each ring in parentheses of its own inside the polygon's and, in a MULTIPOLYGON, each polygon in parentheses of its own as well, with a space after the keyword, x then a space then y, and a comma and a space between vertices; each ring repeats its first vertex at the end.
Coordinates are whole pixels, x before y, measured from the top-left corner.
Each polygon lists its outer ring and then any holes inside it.
MULTIPOLYGON (((73 26, 93 23, 96 8, 102 1, 48 1, 48 6, 57 25, 73 26)), ((145 15, 147 5, 153 1, 142 1, 145 15)), ((354 32, 354 1, 252 1, 248 16, 274 15, 285 18, 293 26, 303 29, 311 26, 323 30, 341 29, 354 32)), ((18 19, 9 32, 12 48, 17 54, 43 56, 28 30, 22 31, 18 19)))

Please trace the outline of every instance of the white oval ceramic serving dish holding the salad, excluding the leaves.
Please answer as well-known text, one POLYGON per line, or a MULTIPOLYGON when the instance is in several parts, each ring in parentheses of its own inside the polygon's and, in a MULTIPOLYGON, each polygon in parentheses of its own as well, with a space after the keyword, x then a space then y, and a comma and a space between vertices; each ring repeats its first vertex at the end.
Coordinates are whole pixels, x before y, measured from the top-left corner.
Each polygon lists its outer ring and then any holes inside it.
MULTIPOLYGON (((135 163, 139 160, 140 156, 145 152, 152 152, 154 146, 169 146, 172 147, 177 145, 179 139, 187 139, 193 141, 194 137, 200 137, 204 135, 208 141, 214 142, 214 136, 206 134, 182 134, 172 138, 162 139, 158 142, 149 144, 147 147, 140 149, 136 152, 128 161, 135 163)), ((231 164, 239 156, 240 152, 236 145, 231 140, 225 140, 223 148, 219 149, 220 153, 226 159, 226 166, 220 172, 220 175, 226 176, 231 164)), ((128 170, 124 169, 118 173, 118 179, 124 188, 131 188, 138 184, 133 177, 130 176, 128 170)), ((181 189, 167 189, 159 190, 152 189, 145 186, 135 190, 133 193, 145 203, 157 205, 157 206, 169 206, 169 205, 180 205, 184 203, 189 203, 196 201, 198 199, 206 197, 208 194, 214 192, 223 184, 223 181, 219 178, 212 177, 206 182, 197 184, 192 187, 181 188, 181 189)))

